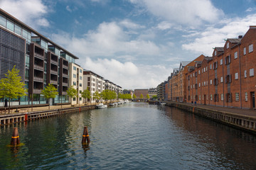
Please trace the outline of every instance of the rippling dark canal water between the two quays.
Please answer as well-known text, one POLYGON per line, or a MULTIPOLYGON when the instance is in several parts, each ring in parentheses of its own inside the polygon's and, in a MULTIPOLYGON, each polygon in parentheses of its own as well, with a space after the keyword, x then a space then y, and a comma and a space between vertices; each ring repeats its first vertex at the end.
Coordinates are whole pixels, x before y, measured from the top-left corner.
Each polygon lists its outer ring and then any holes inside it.
POLYGON ((256 169, 256 137, 177 108, 127 103, 2 126, 0 169, 256 169), (85 125, 91 143, 82 147, 85 125), (6 147, 14 127, 22 147, 6 147))

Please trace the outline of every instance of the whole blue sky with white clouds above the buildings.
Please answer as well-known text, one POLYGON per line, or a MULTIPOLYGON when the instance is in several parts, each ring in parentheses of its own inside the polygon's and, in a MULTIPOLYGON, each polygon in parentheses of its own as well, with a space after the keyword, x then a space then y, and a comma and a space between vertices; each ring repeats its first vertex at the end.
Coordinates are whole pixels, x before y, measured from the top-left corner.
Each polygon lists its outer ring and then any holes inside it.
POLYGON ((255 0, 0 0, 0 8, 123 89, 156 87, 256 25, 255 0))

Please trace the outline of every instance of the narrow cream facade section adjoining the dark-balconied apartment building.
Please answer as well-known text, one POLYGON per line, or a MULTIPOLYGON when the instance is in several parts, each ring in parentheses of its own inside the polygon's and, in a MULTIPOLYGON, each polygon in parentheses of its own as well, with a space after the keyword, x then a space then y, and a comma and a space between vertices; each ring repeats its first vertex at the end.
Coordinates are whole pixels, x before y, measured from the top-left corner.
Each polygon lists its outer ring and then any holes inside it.
POLYGON ((78 91, 78 95, 75 98, 69 98, 72 105, 82 104, 81 92, 83 91, 83 75, 82 67, 78 64, 70 62, 69 64, 69 87, 73 86, 78 91))

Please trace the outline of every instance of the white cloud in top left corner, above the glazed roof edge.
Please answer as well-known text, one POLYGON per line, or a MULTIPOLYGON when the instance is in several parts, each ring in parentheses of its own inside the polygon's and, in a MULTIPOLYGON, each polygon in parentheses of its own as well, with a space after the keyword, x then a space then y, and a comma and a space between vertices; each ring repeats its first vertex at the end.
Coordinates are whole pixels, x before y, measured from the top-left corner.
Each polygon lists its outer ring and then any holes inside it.
POLYGON ((41 0, 1 0, 0 6, 4 11, 34 29, 50 26, 45 18, 49 12, 48 6, 41 0))

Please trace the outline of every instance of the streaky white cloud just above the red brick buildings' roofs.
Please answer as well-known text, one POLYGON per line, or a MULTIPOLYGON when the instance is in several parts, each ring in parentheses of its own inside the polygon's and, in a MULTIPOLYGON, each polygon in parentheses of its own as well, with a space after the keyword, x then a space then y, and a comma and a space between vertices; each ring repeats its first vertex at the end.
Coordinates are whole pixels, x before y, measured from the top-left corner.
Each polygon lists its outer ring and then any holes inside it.
POLYGON ((213 47, 223 47, 225 44, 224 39, 238 38, 238 35, 244 35, 249 26, 254 26, 255 23, 256 14, 245 18, 226 19, 221 21, 220 24, 222 26, 220 28, 209 26, 201 33, 188 34, 187 38, 193 37, 194 39, 192 42, 183 44, 182 47, 184 50, 212 55, 213 47))

